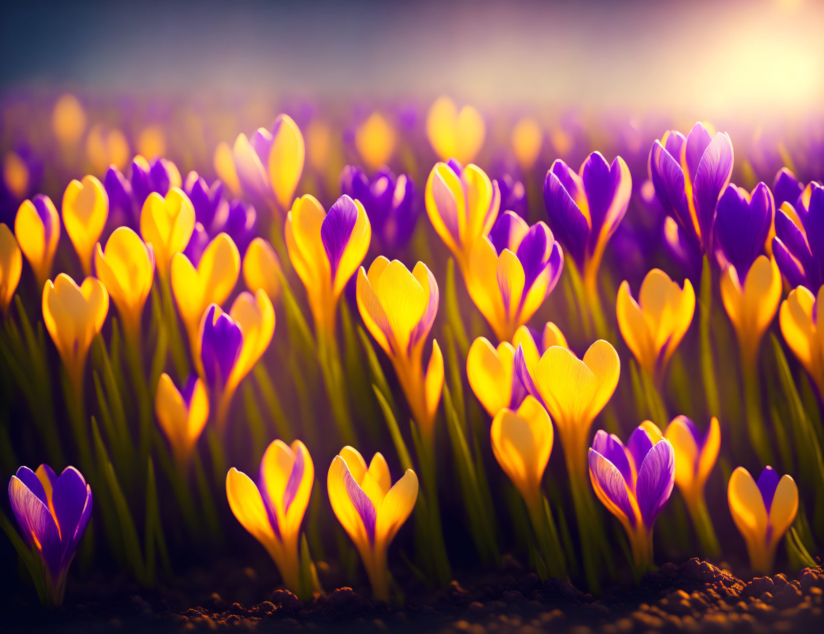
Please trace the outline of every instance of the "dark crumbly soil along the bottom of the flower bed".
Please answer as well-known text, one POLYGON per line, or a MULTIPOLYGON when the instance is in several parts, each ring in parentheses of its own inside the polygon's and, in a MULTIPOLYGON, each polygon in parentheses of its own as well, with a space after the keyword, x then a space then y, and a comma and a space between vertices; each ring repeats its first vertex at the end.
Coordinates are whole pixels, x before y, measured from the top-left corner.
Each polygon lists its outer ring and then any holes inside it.
MULTIPOLYGON (((100 580, 73 589, 67 606, 46 612, 15 599, 4 612, 5 632, 181 632, 236 629, 260 632, 821 632, 824 618, 824 572, 806 568, 797 578, 786 575, 756 578, 748 583, 699 559, 667 563, 644 575, 640 586, 612 589, 597 599, 574 586, 523 571, 508 561, 503 571, 475 575, 472 581, 452 581, 437 593, 410 597, 402 608, 373 603, 344 587, 302 602, 288 590, 275 590, 266 601, 253 595, 274 580, 260 578, 250 568, 224 564, 224 570, 195 571, 190 586, 158 586, 150 593, 131 594, 109 603, 71 605, 78 595, 108 593, 100 580), (218 582, 214 575, 222 575, 218 582), (211 580, 211 581, 209 581, 211 580), (186 593, 220 587, 198 607, 185 604, 186 593), (165 597, 165 598, 161 598, 165 597), (245 603, 244 603, 245 602, 245 603)), ((220 568, 220 566, 218 566, 220 568)), ((120 594, 124 596, 125 594, 120 594)), ((260 594, 257 595, 260 597, 260 594)), ((202 598, 202 595, 201 595, 202 598)))

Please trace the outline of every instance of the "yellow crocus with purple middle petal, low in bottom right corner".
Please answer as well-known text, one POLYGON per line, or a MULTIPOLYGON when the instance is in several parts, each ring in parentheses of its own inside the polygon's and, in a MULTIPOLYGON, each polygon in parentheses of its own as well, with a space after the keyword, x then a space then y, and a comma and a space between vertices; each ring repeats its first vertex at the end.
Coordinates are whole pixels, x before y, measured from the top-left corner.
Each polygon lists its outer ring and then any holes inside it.
POLYGON ((747 542, 750 566, 768 575, 775 548, 793 524, 798 512, 798 486, 787 475, 779 478, 773 467, 764 467, 758 481, 744 467, 737 467, 727 487, 729 512, 747 542))

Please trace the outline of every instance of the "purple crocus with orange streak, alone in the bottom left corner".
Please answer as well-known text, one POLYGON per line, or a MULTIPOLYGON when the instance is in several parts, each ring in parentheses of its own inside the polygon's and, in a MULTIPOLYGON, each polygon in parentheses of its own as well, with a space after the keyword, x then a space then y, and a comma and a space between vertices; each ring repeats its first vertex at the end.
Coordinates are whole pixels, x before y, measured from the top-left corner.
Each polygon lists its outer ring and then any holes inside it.
POLYGON ((91 487, 74 467, 58 477, 49 465, 20 467, 8 497, 23 538, 43 561, 49 603, 59 606, 66 574, 91 518, 91 487))

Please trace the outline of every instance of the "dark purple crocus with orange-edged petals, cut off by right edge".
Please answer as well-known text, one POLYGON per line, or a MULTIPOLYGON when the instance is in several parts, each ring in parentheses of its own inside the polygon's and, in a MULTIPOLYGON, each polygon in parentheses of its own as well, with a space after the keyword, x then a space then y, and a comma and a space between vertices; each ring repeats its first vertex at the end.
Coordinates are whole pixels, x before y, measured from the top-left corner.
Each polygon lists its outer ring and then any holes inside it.
POLYGON ((773 254, 790 286, 817 293, 824 284, 824 188, 810 183, 797 204, 775 214, 773 254))

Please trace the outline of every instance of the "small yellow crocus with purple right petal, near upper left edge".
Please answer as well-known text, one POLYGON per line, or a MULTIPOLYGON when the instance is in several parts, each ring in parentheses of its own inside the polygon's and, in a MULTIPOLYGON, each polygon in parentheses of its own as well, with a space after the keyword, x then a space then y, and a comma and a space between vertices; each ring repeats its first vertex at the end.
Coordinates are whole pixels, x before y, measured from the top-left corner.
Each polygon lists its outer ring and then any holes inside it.
POLYGON ((60 217, 49 196, 38 194, 21 203, 14 218, 14 234, 37 284, 42 286, 51 275, 60 240, 60 217))

